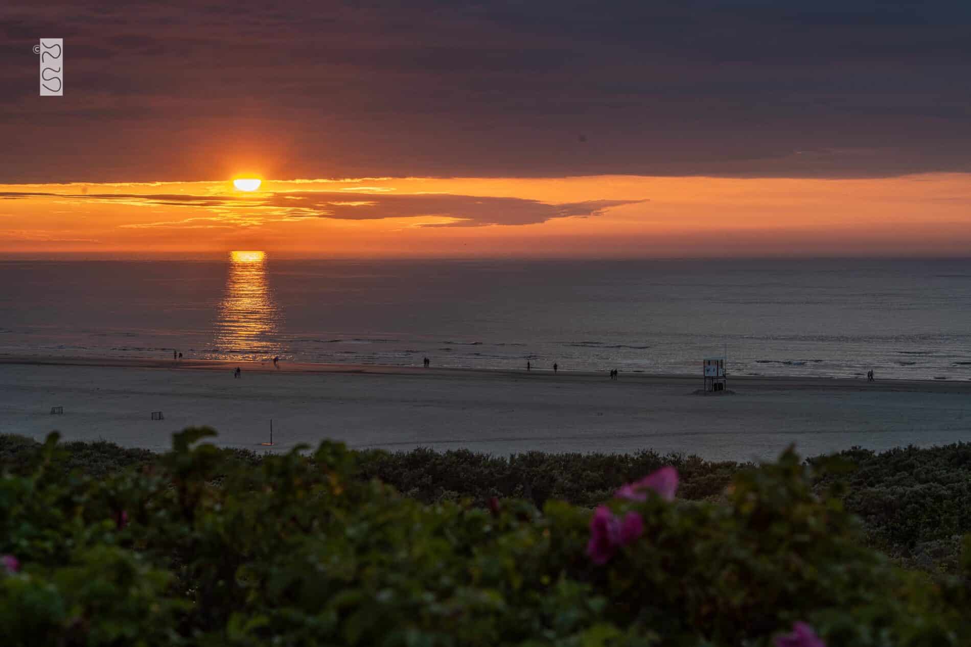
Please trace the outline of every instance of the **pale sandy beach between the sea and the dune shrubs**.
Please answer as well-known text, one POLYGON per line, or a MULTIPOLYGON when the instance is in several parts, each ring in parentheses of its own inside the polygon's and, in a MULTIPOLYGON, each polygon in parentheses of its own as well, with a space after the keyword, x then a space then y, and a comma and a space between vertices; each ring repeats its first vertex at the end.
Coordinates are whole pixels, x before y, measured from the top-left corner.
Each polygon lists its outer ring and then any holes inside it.
POLYGON ((696 453, 773 458, 971 439, 971 382, 473 371, 323 364, 0 357, 0 433, 165 449, 210 425, 224 446, 275 451, 325 437, 349 446, 696 453), (62 406, 63 415, 51 415, 62 406), (163 420, 151 420, 162 411, 163 420))

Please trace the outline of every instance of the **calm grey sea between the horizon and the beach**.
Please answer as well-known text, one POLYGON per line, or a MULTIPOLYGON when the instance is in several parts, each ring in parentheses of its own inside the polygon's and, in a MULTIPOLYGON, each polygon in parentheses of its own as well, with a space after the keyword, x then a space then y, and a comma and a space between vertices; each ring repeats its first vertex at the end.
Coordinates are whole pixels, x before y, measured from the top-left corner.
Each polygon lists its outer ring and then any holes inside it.
POLYGON ((971 379, 971 261, 0 262, 0 353, 971 379))

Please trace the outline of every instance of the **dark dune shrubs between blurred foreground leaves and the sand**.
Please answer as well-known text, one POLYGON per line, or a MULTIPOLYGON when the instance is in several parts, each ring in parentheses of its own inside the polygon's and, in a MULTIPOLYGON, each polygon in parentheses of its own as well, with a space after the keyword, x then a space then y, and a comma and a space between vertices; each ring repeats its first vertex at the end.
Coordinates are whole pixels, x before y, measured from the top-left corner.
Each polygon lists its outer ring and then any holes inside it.
MULTIPOLYGON (((14 472, 29 469, 40 443, 0 435, 0 466, 14 472)), ((63 469, 103 476, 124 468, 154 465, 159 455, 115 443, 68 442, 63 469)), ((257 466, 263 455, 247 449, 220 449, 225 466, 257 466)), ((402 494, 422 501, 517 498, 542 507, 547 500, 593 507, 609 499, 620 485, 664 465, 678 469, 680 499, 719 501, 733 476, 753 464, 705 461, 682 454, 653 451, 633 454, 526 452, 509 457, 459 449, 436 452, 415 449, 388 453, 354 452, 354 477, 378 478, 402 494)), ((808 459, 826 467, 814 482, 819 490, 842 482, 847 509, 863 521, 865 543, 902 566, 953 573, 961 555, 961 537, 971 533, 971 443, 931 448, 905 447, 883 453, 854 447, 829 457, 808 459)), ((218 483, 221 475, 214 477, 218 483)))

